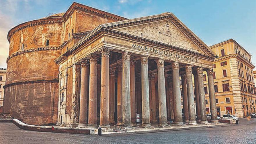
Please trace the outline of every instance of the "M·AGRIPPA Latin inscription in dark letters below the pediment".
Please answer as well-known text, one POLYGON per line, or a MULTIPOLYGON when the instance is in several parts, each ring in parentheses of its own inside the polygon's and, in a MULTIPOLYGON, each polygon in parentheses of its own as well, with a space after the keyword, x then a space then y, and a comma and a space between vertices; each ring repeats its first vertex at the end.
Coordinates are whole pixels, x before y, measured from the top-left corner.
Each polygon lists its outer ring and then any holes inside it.
POLYGON ((174 52, 171 52, 171 51, 166 51, 166 50, 163 50, 163 49, 147 47, 145 45, 132 44, 132 48, 140 49, 140 50, 143 50, 143 51, 153 52, 153 53, 156 53, 156 54, 164 54, 166 56, 170 56, 170 57, 173 57, 173 58, 178 58, 178 59, 181 59, 181 60, 199 62, 199 58, 194 58, 192 56, 186 56, 186 55, 183 55, 183 54, 178 54, 178 53, 174 53, 174 52))

